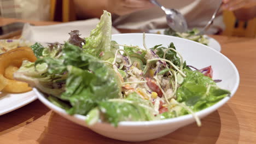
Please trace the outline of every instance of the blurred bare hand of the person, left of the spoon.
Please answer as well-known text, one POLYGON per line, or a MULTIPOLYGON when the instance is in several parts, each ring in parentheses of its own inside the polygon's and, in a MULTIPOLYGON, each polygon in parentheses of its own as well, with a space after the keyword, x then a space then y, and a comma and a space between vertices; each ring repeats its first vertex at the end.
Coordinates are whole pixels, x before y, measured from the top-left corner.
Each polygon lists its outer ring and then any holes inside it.
POLYGON ((107 10, 116 15, 126 15, 153 7, 149 0, 107 0, 107 10))

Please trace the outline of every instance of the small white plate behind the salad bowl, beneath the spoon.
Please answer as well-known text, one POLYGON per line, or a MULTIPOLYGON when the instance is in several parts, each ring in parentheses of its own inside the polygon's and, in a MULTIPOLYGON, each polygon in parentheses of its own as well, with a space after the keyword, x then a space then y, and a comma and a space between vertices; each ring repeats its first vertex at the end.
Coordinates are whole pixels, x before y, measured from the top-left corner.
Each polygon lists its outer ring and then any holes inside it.
MULTIPOLYGON (((152 29, 149 30, 148 33, 158 33, 160 32, 161 34, 164 34, 165 29, 152 29)), ((222 47, 220 46, 220 44, 218 43, 218 41, 214 38, 209 37, 208 35, 203 35, 205 38, 207 38, 209 40, 209 47, 212 47, 214 50, 220 52, 222 50, 222 47)))

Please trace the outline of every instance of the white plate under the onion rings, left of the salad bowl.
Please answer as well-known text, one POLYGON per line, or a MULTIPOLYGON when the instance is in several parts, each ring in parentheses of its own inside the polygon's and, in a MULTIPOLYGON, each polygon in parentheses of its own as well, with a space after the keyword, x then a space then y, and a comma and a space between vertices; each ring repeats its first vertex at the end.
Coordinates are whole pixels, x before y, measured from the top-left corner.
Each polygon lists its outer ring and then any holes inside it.
MULTIPOLYGON (((8 39, 1 39, 1 42, 8 41, 8 39)), ((26 43, 30 45, 28 41, 14 39, 9 41, 18 41, 22 44, 26 43)), ((20 93, 20 94, 9 94, 9 93, 1 93, 0 92, 0 116, 4 115, 5 113, 14 111, 19 109, 20 107, 31 103, 32 101, 36 100, 37 96, 33 91, 20 93)))

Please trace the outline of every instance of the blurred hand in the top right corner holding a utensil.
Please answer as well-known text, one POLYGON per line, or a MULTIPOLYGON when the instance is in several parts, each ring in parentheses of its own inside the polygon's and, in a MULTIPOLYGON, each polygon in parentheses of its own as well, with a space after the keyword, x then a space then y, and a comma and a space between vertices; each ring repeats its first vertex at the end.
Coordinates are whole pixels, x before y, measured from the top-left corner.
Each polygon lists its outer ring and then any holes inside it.
POLYGON ((252 8, 256 6, 256 0, 222 0, 223 9, 234 11, 241 8, 252 8))

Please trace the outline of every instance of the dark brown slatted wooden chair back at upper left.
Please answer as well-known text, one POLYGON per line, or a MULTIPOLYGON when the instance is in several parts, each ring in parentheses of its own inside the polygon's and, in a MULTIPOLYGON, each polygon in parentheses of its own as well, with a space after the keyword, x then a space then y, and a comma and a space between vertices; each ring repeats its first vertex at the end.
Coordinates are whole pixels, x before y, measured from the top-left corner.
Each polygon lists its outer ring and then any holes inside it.
POLYGON ((74 4, 71 0, 51 0, 50 20, 51 21, 75 21, 74 4), (62 7, 57 7, 62 5, 62 7))

